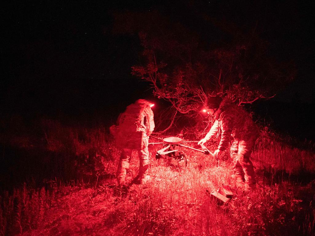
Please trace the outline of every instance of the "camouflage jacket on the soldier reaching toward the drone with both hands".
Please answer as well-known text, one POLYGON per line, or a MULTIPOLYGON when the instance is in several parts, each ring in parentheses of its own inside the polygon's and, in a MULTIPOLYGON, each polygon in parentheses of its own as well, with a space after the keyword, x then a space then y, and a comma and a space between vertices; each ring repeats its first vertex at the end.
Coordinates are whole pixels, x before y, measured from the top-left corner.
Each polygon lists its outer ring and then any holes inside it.
POLYGON ((259 128, 243 108, 238 107, 230 99, 224 99, 215 112, 215 122, 205 136, 209 140, 218 130, 221 130, 221 141, 218 149, 225 150, 231 136, 237 140, 255 141, 259 128))

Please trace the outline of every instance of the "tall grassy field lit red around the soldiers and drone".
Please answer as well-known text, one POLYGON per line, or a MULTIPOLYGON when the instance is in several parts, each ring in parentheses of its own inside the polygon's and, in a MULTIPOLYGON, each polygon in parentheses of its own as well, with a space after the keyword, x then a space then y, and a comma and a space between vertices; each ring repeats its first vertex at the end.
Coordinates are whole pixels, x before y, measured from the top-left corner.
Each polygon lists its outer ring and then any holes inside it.
MULTIPOLYGON (((45 177, 35 164, 39 160, 37 165, 49 166, 44 169, 49 177, 41 182, 26 178, 24 184, 2 191, 0 235, 315 234, 312 143, 293 146, 261 132, 251 157, 257 175, 253 191, 233 182, 227 154, 215 160, 183 149, 188 165, 179 168, 167 159, 155 160, 162 146, 150 145, 151 181, 133 183, 139 166, 134 151, 129 186, 121 189, 113 181, 120 150, 105 128, 66 127, 46 120, 38 130, 37 142, 28 135, 23 138, 23 132, 1 139, 36 156, 23 173, 45 177), (42 151, 35 155, 35 149, 42 151), (222 183, 231 185, 234 196, 219 205, 209 193, 222 183)), ((208 144, 210 150, 214 146, 215 141, 208 144)))

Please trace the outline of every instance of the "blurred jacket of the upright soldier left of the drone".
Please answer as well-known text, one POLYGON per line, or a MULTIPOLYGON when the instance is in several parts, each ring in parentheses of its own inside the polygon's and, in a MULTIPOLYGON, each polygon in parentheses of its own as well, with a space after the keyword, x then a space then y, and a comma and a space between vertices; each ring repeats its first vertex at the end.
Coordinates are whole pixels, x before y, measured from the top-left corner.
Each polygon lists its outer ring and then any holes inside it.
POLYGON ((146 100, 139 100, 118 117, 115 138, 119 148, 141 150, 148 146, 148 137, 155 127, 153 111, 146 100))

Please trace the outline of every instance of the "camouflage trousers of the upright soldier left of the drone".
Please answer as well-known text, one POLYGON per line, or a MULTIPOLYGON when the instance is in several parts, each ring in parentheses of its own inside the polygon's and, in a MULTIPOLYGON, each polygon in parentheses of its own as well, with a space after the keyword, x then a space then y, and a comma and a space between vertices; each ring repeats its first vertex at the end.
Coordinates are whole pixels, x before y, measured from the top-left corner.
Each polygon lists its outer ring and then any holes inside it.
MULTIPOLYGON (((118 168, 116 172, 117 176, 117 182, 118 184, 124 184, 125 183, 125 177, 127 174, 127 170, 129 169, 129 163, 131 159, 131 154, 132 154, 133 149, 128 149, 128 148, 123 148, 120 158, 119 158, 119 163, 118 163, 118 168)), ((145 179, 147 175, 147 170, 149 167, 149 150, 148 147, 138 150, 138 156, 139 156, 139 180, 145 179)))

